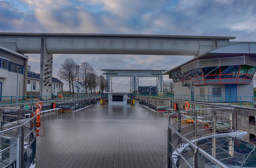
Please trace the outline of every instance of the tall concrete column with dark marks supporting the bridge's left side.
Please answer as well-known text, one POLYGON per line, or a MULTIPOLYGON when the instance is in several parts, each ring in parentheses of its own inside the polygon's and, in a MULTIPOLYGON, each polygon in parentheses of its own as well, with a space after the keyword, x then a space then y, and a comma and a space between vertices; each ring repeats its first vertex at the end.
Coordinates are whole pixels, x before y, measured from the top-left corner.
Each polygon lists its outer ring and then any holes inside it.
POLYGON ((41 99, 50 99, 52 96, 53 77, 53 54, 49 54, 46 49, 45 35, 41 38, 41 58, 40 58, 40 85, 39 92, 41 99))

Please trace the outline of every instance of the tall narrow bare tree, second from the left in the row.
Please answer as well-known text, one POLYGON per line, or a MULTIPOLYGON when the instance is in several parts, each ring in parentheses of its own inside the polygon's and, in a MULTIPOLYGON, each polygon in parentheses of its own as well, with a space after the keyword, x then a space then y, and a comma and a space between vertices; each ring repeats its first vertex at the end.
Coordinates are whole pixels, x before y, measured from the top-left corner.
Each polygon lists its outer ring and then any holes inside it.
POLYGON ((87 90, 89 88, 90 85, 90 77, 91 74, 94 73, 93 68, 90 66, 89 63, 87 63, 86 61, 82 63, 81 65, 81 78, 83 80, 84 83, 84 87, 85 87, 85 93, 87 94, 87 90))

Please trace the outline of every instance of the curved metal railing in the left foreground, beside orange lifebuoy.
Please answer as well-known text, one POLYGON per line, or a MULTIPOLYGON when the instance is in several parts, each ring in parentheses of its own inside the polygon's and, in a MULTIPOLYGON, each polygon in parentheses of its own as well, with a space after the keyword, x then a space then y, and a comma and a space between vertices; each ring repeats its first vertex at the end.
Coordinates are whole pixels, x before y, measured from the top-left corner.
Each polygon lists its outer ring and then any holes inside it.
POLYGON ((29 167, 36 156, 35 113, 31 110, 3 107, 0 107, 0 112, 0 168, 29 167), (6 111, 15 111, 16 115, 6 114, 6 111), (35 116, 29 119, 24 115, 32 113, 35 116), (4 116, 15 119, 9 122, 4 116))

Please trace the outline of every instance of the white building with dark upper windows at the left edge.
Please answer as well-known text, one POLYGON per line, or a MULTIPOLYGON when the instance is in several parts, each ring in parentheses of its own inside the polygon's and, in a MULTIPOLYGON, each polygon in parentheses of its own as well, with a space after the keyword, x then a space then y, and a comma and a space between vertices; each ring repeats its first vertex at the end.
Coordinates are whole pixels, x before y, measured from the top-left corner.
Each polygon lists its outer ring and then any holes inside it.
POLYGON ((19 54, 13 50, 0 46, 0 101, 10 99, 2 96, 16 96, 17 68, 18 75, 18 96, 26 94, 26 73, 28 56, 19 54))

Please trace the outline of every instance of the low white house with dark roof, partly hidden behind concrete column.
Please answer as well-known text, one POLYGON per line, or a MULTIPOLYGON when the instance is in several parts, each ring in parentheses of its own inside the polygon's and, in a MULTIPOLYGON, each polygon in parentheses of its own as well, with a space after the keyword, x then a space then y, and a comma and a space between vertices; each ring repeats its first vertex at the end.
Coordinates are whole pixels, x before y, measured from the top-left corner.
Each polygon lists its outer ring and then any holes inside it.
MULTIPOLYGON (((63 92, 63 83, 56 77, 52 79, 52 94, 57 95, 63 92)), ((30 66, 28 68, 28 79, 27 79, 27 91, 28 92, 38 92, 39 93, 40 84, 40 74, 30 71, 30 66)))

